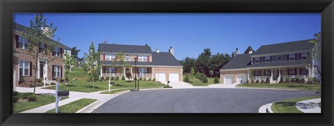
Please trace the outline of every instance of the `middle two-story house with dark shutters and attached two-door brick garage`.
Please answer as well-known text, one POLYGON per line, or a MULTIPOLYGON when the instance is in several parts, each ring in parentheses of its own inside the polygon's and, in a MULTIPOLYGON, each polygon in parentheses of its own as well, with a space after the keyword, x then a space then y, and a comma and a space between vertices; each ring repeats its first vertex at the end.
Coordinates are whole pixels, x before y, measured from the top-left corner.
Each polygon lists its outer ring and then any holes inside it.
POLYGON ((146 46, 123 45, 123 44, 99 44, 101 52, 102 68, 101 75, 126 77, 126 73, 131 73, 134 78, 135 58, 137 78, 155 78, 157 81, 182 81, 182 65, 174 57, 173 48, 168 52, 151 52, 146 46), (124 61, 129 64, 125 67, 115 66, 113 62, 119 61, 116 54, 118 52, 125 54, 124 61))

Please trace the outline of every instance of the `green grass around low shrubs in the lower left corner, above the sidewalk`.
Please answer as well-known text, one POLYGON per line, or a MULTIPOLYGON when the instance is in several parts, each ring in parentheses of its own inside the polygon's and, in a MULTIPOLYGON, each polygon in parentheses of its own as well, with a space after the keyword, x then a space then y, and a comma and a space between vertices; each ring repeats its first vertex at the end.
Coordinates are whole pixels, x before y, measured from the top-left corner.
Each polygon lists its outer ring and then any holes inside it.
MULTIPOLYGON (((24 93, 18 93, 18 98, 22 99, 24 93)), ((26 111, 29 109, 33 109, 35 107, 40 107, 42 105, 48 105, 52 102, 56 102, 56 98, 54 96, 49 95, 38 95, 35 94, 36 101, 28 101, 28 102, 14 102, 13 103, 13 113, 19 113, 22 111, 26 111)), ((61 100, 64 100, 66 98, 62 98, 61 100)))

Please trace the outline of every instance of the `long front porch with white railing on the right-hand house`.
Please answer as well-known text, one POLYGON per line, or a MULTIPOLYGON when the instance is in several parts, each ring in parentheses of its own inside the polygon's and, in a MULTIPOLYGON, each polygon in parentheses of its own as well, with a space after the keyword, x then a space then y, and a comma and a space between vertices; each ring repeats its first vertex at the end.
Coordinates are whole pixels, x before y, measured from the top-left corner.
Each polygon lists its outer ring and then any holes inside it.
POLYGON ((253 69, 253 73, 249 71, 250 76, 248 78, 249 81, 253 80, 264 80, 264 82, 269 78, 270 83, 278 83, 283 78, 283 80, 291 79, 291 78, 304 78, 308 80, 308 78, 312 78, 311 70, 305 66, 298 67, 286 67, 286 68, 271 68, 271 69, 253 69))

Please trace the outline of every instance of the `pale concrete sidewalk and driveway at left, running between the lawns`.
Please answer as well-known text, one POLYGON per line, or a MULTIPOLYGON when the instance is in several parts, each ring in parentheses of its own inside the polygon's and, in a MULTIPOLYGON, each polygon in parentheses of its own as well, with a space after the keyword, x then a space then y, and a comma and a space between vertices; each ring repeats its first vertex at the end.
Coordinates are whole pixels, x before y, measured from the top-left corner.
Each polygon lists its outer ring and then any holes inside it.
MULTIPOLYGON (((33 92, 33 88, 27 88, 27 87, 16 87, 17 92, 22 92, 22 93, 26 93, 26 92, 33 92)), ((97 92, 92 92, 92 93, 84 93, 84 92, 77 92, 77 91, 70 91, 70 96, 69 98, 65 99, 65 100, 61 100, 58 102, 59 107, 66 105, 70 102, 74 102, 75 100, 80 100, 82 98, 90 98, 90 99, 96 99, 96 100, 102 100, 105 99, 109 96, 111 96, 111 94, 102 94, 100 92, 103 91, 97 91, 97 92)), ((36 88, 35 93, 55 93, 55 90, 51 90, 51 89, 40 89, 40 87, 36 88)), ((51 104, 48 105, 43 105, 40 107, 36 107, 34 109, 29 109, 26 111, 22 111, 21 113, 45 113, 51 109, 54 109, 56 107, 56 103, 53 102, 51 104)))

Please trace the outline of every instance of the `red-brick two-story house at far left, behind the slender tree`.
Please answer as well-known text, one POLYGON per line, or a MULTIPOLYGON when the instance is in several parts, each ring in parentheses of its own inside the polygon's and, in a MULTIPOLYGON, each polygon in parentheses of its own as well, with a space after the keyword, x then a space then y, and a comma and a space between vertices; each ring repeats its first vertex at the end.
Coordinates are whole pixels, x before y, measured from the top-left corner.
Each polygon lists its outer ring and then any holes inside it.
MULTIPOLYGON (((28 87, 30 82, 34 81, 33 66, 35 66, 35 60, 28 53, 29 42, 22 37, 22 32, 26 26, 21 24, 13 24, 13 86, 28 87), (24 78, 24 83, 19 83, 20 78, 24 78)), ((38 57, 38 72, 37 78, 46 80, 55 80, 64 78, 64 64, 62 57, 64 52, 71 54, 71 48, 54 41, 49 38, 49 44, 47 45, 40 42, 39 53, 43 53, 43 48, 47 46, 53 46, 54 51, 50 55, 44 57, 38 57)))

